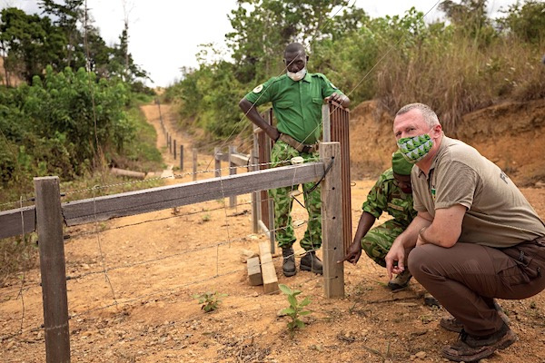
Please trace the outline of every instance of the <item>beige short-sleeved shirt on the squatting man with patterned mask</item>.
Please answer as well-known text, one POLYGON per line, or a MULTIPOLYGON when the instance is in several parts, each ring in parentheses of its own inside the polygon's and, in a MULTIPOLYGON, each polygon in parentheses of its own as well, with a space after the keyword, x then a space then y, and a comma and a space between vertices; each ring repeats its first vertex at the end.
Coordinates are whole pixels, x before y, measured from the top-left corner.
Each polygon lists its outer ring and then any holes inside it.
POLYGON ((467 208, 461 242, 504 248, 545 236, 543 221, 505 172, 459 140, 443 136, 429 175, 416 166, 411 183, 416 211, 467 208))

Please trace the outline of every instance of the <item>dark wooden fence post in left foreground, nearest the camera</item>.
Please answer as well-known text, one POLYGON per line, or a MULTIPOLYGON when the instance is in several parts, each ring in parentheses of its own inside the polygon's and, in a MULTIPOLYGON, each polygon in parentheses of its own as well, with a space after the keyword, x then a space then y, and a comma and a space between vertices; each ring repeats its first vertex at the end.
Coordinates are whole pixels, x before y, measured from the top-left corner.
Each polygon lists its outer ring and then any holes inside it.
POLYGON ((63 214, 58 177, 35 178, 36 223, 44 299, 45 359, 70 362, 63 214))

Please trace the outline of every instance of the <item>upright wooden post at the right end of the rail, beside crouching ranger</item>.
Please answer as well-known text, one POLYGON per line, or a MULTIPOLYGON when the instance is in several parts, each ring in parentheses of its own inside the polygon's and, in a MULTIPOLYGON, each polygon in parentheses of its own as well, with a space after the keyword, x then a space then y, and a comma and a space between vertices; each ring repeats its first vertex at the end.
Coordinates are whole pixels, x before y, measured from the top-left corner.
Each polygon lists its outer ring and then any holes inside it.
POLYGON ((322 253, 323 280, 326 298, 344 297, 344 258, 342 232, 341 144, 322 142, 320 158, 325 170, 322 182, 322 253))

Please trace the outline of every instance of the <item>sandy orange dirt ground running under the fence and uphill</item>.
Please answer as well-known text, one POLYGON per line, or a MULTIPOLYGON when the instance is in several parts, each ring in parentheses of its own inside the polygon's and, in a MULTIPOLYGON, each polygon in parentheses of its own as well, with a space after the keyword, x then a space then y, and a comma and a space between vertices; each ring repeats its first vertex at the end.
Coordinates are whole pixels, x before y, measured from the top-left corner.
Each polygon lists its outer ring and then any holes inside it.
MULTIPOLYGON (((156 105, 144 107, 144 113, 158 129, 156 105)), ((173 120, 168 106, 162 106, 162 113, 163 119, 173 120)), ((157 133, 164 149, 163 134, 157 133)), ((191 150, 189 138, 176 137, 191 150)), ((164 158, 175 165, 169 155, 164 158)), ((211 158, 199 155, 203 163, 211 158)), ((186 165, 189 171, 190 163, 186 165)), ((354 229, 372 184, 353 183, 354 229)), ((523 192, 544 216, 545 190, 523 192)), ((391 293, 385 288, 385 270, 365 257, 356 266, 345 266, 344 299, 324 299, 322 277, 310 272, 283 277, 281 260, 274 260, 279 281, 312 299, 312 314, 303 318, 306 327, 291 339, 288 319, 277 316, 288 307, 285 296, 265 295, 263 287, 247 282, 241 253, 257 251, 257 241, 265 240, 252 233, 249 201, 246 195, 233 209, 210 201, 67 229, 72 361, 444 361, 441 346, 457 337, 439 328, 445 311, 424 306, 423 289, 415 281, 409 289, 391 293), (220 309, 201 310, 193 294, 205 291, 227 294, 220 309)), ((294 219, 305 221, 306 213, 296 206, 294 219)), ((299 238, 304 228, 296 229, 299 238)), ((299 246, 296 250, 302 251, 299 246)), ((39 271, 27 272, 25 280, 22 294, 16 281, 0 289, 2 362, 45 361, 39 271), (16 335, 21 325, 23 333, 16 335)), ((545 362, 545 295, 500 304, 520 341, 485 361, 545 362)))

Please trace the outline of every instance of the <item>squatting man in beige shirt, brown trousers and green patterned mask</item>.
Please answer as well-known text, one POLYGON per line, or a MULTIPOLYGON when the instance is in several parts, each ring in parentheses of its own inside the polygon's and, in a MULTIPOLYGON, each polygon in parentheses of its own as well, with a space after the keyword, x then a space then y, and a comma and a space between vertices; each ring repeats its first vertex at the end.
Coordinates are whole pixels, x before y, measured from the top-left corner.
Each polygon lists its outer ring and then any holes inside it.
POLYGON ((446 137, 437 114, 422 103, 393 121, 412 168, 417 217, 386 256, 391 273, 408 267, 462 327, 444 358, 476 361, 507 348, 517 336, 494 298, 526 299, 545 289, 545 225, 520 190, 471 146, 446 137))

